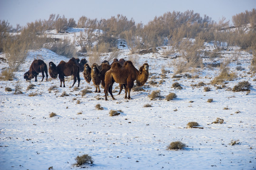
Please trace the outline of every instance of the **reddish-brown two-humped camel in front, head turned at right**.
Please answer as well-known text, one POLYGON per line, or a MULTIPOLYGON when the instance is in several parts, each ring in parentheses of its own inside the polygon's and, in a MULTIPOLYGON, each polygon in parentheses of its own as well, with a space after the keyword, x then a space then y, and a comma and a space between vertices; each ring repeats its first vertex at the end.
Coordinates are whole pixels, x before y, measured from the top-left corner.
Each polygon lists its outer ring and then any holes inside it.
POLYGON ((124 98, 127 98, 128 93, 128 99, 131 99, 130 93, 131 89, 133 88, 134 81, 136 80, 138 86, 142 86, 146 83, 148 77, 148 63, 144 63, 142 67, 137 70, 133 66, 132 61, 125 61, 123 66, 119 62, 115 62, 110 70, 108 70, 105 74, 105 100, 107 100, 107 92, 110 93, 112 99, 114 100, 114 96, 112 93, 112 87, 114 82, 126 85, 124 98))

